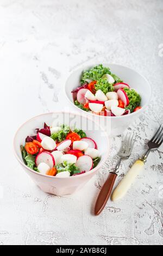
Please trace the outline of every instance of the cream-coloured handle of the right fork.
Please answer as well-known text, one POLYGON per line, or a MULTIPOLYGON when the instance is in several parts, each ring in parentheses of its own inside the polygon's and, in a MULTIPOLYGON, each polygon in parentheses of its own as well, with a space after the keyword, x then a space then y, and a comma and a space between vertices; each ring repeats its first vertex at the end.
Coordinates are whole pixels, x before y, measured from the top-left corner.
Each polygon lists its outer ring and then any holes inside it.
POLYGON ((130 168, 126 176, 121 180, 120 184, 115 188, 112 194, 112 201, 117 201, 124 197, 129 190, 131 184, 133 184, 137 175, 139 175, 144 169, 145 163, 142 160, 137 160, 130 168))

